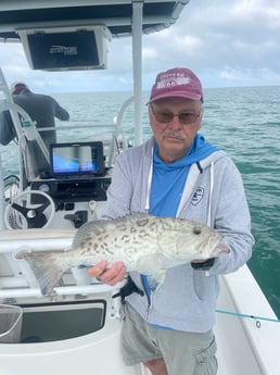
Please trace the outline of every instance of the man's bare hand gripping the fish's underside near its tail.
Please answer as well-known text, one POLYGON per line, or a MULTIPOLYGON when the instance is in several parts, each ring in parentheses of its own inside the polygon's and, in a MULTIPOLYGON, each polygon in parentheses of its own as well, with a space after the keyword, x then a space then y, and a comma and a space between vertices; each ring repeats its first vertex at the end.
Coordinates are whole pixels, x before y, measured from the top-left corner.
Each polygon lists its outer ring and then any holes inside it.
POLYGON ((89 277, 97 277, 102 283, 111 286, 122 282, 126 274, 126 266, 123 262, 116 262, 110 268, 107 268, 107 262, 101 261, 93 267, 88 268, 89 277))

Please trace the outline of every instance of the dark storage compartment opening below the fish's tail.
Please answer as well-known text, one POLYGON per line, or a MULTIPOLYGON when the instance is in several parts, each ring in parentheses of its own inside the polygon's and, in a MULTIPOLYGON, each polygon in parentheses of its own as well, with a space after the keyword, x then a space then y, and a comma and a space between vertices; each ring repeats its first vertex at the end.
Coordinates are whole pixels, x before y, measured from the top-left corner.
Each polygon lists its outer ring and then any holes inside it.
POLYGON ((65 340, 101 329, 103 300, 23 307, 21 342, 65 340))

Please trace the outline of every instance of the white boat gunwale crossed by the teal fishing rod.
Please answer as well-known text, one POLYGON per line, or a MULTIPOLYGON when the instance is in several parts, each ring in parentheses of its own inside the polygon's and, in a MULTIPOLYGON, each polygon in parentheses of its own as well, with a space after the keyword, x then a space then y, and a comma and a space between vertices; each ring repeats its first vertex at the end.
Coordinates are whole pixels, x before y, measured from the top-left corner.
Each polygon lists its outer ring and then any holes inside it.
POLYGON ((217 310, 228 313, 217 313, 215 326, 218 374, 278 374, 280 325, 249 267, 243 266, 220 280, 217 310))

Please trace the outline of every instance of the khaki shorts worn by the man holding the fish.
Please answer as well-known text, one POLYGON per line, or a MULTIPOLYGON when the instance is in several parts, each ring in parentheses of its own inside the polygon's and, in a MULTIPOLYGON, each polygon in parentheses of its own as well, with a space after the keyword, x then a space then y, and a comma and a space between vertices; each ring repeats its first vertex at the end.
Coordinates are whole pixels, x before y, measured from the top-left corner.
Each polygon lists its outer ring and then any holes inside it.
POLYGON ((216 342, 212 330, 186 333, 147 324, 128 303, 122 307, 122 352, 125 364, 164 358, 169 375, 216 375, 216 342))

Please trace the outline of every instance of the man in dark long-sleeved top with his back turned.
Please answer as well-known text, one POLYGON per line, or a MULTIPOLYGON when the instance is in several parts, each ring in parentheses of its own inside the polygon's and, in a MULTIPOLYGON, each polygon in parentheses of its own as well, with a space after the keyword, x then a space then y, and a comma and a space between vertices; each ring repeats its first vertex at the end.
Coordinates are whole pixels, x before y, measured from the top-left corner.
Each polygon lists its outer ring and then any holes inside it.
MULTIPOLYGON (((58 101, 47 95, 35 93, 28 86, 22 82, 14 83, 11 86, 11 93, 15 104, 20 105, 36 123, 37 128, 54 127, 55 120, 68 121, 68 112, 62 108, 58 101)), ((41 132, 40 136, 44 141, 47 148, 51 143, 55 143, 55 130, 41 132)), ((0 113, 0 143, 8 145, 11 140, 17 138, 15 127, 9 111, 0 113)), ((28 158, 30 166, 33 167, 33 175, 36 176, 48 170, 48 162, 41 154, 36 141, 29 141, 27 146, 28 158)), ((29 170, 29 168, 28 168, 29 170)))

